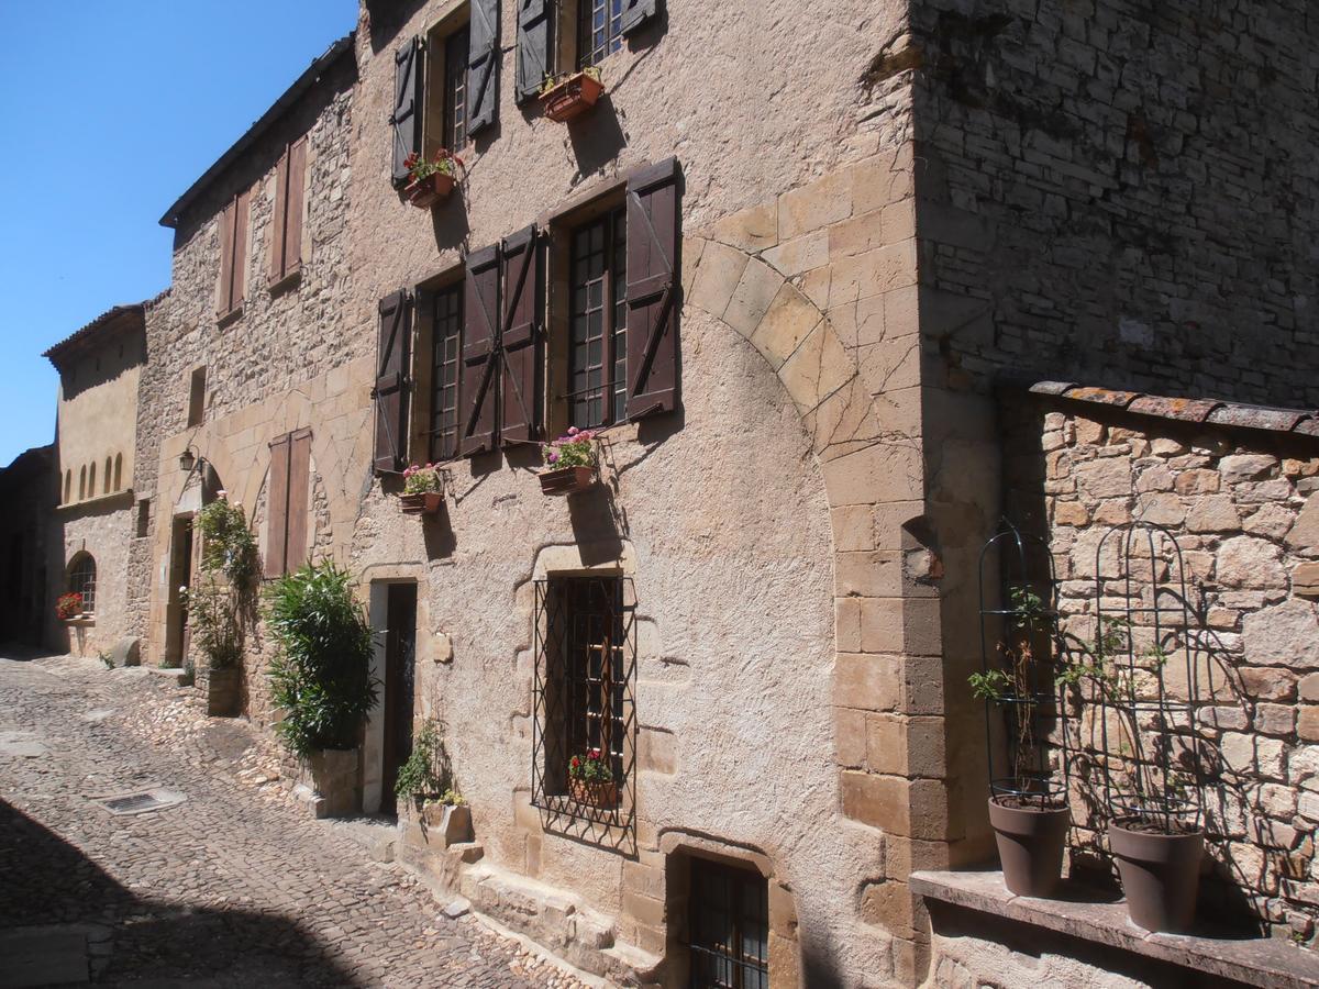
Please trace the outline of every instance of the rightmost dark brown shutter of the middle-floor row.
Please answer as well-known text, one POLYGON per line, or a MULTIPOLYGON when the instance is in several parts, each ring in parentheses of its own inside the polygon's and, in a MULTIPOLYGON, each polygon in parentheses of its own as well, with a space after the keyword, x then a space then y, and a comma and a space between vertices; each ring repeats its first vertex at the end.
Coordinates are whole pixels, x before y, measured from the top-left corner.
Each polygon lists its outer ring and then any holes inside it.
POLYGON ((628 179, 628 418, 678 406, 678 161, 628 179))

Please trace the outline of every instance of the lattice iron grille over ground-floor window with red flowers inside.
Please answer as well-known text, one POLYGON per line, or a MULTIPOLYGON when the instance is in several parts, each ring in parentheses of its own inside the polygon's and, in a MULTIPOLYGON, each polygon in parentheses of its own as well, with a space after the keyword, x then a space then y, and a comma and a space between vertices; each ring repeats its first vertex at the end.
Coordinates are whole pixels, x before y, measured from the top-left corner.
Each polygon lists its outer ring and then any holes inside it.
POLYGON ((532 803, 551 828, 624 845, 636 807, 636 596, 621 576, 536 582, 532 803), (572 796, 568 762, 599 749, 612 803, 572 796))

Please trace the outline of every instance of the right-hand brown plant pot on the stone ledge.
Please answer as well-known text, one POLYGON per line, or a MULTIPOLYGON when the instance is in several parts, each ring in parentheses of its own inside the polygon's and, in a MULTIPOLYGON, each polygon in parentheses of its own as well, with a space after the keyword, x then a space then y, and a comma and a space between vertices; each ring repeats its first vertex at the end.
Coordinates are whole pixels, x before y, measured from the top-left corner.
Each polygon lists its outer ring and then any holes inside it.
POLYGON ((1126 913, 1146 931, 1182 934, 1195 922, 1204 832, 1136 831, 1132 819, 1108 825, 1108 847, 1126 894, 1126 913))

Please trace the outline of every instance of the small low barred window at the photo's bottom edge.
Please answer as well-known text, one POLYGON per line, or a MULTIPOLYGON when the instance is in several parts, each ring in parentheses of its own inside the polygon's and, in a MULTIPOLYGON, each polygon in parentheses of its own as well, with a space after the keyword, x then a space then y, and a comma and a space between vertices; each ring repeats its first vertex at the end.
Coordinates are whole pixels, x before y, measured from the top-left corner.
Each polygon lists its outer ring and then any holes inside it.
POLYGON ((760 873, 692 858, 689 926, 692 989, 769 989, 769 890, 760 873))

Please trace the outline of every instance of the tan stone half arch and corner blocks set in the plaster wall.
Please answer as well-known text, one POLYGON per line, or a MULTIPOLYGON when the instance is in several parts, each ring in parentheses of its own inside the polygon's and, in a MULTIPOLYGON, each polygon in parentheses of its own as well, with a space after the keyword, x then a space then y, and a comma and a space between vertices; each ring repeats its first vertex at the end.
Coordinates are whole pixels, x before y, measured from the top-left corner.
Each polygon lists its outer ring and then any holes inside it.
POLYGON ((913 972, 926 935, 917 930, 906 880, 914 869, 944 866, 952 837, 938 588, 929 582, 933 558, 913 535, 919 526, 907 525, 926 514, 921 389, 910 368, 894 375, 900 363, 919 360, 914 257, 902 305, 874 298, 869 306, 888 310, 882 335, 902 355, 877 371, 856 328, 863 303, 853 294, 851 305, 834 307, 836 290, 830 298, 828 282, 847 278, 845 264, 816 269, 814 280, 790 277, 772 264, 785 257, 776 247, 773 235, 754 244, 758 251, 718 233, 685 236, 686 305, 764 356, 813 436, 834 535, 840 811, 884 832, 885 881, 863 890, 860 910, 906 942, 894 965, 913 972), (849 323, 844 332, 842 320, 849 323))

